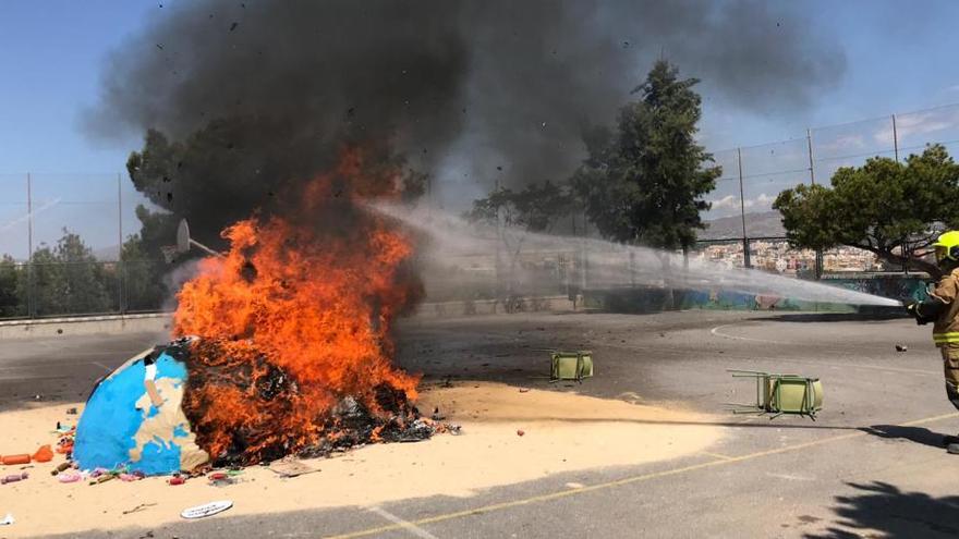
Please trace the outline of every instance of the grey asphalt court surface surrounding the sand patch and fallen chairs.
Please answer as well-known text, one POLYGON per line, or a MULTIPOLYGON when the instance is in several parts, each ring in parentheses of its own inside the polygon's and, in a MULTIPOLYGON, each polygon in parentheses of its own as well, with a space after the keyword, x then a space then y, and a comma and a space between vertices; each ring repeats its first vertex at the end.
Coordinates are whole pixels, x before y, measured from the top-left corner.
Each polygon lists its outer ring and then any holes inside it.
MULTIPOLYGON (((555 475, 470 498, 223 515, 110 537, 235 538, 252 529, 257 537, 959 535, 959 456, 940 446, 942 434, 959 431, 959 413, 945 397, 928 328, 908 319, 544 314, 411 319, 401 335, 400 363, 427 380, 681 403, 716 413, 727 436, 696 455, 555 475), (559 347, 593 350, 596 377, 574 388, 543 381, 541 348, 559 347), (825 408, 816 421, 726 413, 725 403, 754 394, 727 369, 820 377, 825 408)), ((0 407, 16 409, 38 393, 76 401, 154 341, 139 334, 0 343, 0 407)))

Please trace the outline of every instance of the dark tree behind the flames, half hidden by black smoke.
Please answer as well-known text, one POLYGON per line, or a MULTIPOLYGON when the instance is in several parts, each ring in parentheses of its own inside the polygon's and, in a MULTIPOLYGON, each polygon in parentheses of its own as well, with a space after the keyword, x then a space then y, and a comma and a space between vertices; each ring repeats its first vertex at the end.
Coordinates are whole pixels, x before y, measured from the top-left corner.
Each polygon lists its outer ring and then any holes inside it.
MULTIPOLYGON (((269 118, 222 118, 182 139, 148 130, 143 148, 130 154, 126 172, 136 191, 170 213, 167 219, 177 223, 185 218, 191 233, 202 243, 226 247, 226 240, 220 237, 223 229, 254 211, 267 216, 296 207, 303 186, 317 174, 335 169, 341 157, 342 148, 323 148, 316 140, 303 146, 306 143, 298 138, 299 146, 291 146, 290 139, 275 136, 288 133, 290 126, 274 122, 269 118), (313 145, 317 147, 311 149, 313 145)), ((366 187, 389 192, 398 183, 404 203, 425 193, 427 175, 413 170, 389 140, 357 143, 356 147, 362 149, 367 177, 379 182, 366 187), (378 173, 383 170, 398 171, 399 177, 378 173)), ((157 216, 163 213, 148 213, 138 211, 137 217, 141 221, 145 217, 162 220, 157 216)), ((172 243, 173 237, 165 244, 172 243)), ((146 235, 143 240, 153 256, 151 250, 159 246, 146 235)))

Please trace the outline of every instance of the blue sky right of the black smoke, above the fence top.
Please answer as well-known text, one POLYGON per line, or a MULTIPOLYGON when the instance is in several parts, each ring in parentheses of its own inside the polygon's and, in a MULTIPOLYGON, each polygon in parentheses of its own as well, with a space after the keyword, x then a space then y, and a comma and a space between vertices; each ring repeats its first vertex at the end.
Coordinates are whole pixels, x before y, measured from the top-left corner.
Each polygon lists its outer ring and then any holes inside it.
POLYGON ((809 1, 799 3, 817 30, 846 53, 846 73, 808 110, 777 118, 704 110, 707 145, 751 146, 805 135, 806 127, 852 122, 959 102, 955 51, 959 3, 809 1))

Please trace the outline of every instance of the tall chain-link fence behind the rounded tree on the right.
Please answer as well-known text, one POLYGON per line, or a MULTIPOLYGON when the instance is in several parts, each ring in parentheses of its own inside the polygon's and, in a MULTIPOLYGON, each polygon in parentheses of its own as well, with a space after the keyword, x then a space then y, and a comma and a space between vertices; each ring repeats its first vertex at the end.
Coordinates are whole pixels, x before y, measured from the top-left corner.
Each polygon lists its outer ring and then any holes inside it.
POLYGON ((799 184, 829 184, 840 167, 871 157, 897 161, 940 144, 959 150, 959 105, 811 128, 803 138, 715 151, 723 175, 707 198, 708 228, 695 256, 737 267, 762 268, 800 278, 827 273, 905 272, 872 253, 840 247, 825 253, 791 249, 776 196, 799 184))

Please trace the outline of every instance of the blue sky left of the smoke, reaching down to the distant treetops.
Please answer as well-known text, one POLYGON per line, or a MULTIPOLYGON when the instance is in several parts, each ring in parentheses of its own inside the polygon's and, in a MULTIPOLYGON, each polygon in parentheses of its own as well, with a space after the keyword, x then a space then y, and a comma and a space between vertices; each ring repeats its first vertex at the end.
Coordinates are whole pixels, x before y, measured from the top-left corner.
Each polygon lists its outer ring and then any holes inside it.
MULTIPOLYGON (((95 248, 118 243, 117 174, 138 140, 85 135, 80 113, 94 101, 108 51, 143 27, 153 2, 93 0, 0 3, 0 253, 27 250, 26 172, 33 173, 34 246, 61 229, 95 248)), ((123 234, 135 232, 138 196, 121 177, 123 234)))

